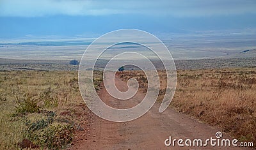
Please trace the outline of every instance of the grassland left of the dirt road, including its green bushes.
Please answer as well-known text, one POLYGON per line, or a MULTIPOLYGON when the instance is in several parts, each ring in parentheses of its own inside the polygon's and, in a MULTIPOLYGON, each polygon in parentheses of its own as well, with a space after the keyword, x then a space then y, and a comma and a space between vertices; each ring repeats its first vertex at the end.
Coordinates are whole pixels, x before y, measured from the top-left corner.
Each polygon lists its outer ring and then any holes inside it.
POLYGON ((0 149, 70 144, 83 104, 77 71, 0 71, 0 83, 0 149))

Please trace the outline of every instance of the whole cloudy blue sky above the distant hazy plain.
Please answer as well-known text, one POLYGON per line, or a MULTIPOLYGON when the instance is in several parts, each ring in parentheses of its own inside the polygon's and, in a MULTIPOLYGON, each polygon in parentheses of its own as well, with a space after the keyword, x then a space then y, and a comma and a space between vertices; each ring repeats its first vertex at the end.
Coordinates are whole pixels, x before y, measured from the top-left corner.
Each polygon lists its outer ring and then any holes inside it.
POLYGON ((255 0, 0 0, 0 38, 256 28, 255 0))

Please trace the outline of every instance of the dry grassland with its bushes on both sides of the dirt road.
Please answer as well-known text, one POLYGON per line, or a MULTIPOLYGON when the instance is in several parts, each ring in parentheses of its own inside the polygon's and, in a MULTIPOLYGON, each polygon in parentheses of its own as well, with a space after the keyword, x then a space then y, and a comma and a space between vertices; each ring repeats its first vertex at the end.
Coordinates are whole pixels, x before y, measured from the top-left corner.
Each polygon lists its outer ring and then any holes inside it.
MULTIPOLYGON (((166 74, 158 102, 165 93, 166 74)), ((88 130, 92 113, 79 92, 77 71, 0 71, 0 149, 66 149, 88 130)), ((135 77, 147 92, 142 71, 121 71, 135 77)), ((102 72, 95 71, 100 91, 102 72)), ((240 142, 256 143, 256 68, 177 70, 177 88, 170 107, 220 128, 240 142)), ((169 109, 172 109, 169 108, 169 109)))

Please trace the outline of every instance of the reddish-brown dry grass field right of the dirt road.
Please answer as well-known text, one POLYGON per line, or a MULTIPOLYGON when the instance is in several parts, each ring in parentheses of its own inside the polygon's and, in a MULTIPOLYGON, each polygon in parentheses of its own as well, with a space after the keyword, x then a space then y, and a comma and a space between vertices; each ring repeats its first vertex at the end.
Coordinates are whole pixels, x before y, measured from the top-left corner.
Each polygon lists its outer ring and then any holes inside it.
MULTIPOLYGON (((138 79, 147 92, 142 71, 123 71, 120 77, 138 79)), ((163 99, 166 74, 159 71, 163 99)), ((256 142, 256 68, 177 71, 172 107, 200 121, 218 126, 241 142, 256 142)))

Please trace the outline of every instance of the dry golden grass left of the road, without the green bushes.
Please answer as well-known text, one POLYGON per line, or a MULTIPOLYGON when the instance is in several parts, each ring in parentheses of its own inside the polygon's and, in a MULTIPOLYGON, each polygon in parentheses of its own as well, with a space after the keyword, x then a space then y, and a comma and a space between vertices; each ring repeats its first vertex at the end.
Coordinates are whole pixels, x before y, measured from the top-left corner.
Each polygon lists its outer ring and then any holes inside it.
POLYGON ((67 121, 68 124, 79 125, 76 124, 79 122, 76 121, 78 118, 73 117, 77 112, 77 105, 83 103, 77 84, 77 71, 0 71, 0 83, 0 149, 17 149, 17 143, 29 137, 26 135, 28 134, 26 123, 46 120, 46 114, 51 111, 56 113, 56 116, 54 123, 49 124, 47 130, 59 126, 65 128, 67 123, 64 122, 67 121), (17 112, 15 109, 17 101, 26 100, 28 96, 40 99, 42 98, 40 95, 42 96, 42 93, 49 88, 52 91, 52 98, 58 99, 57 105, 55 103, 46 107, 45 101, 40 101, 41 103, 37 103, 41 108, 39 112, 17 112), (65 114, 63 112, 71 115, 61 115, 61 113, 65 114), (56 124, 60 125, 56 127, 56 124))

